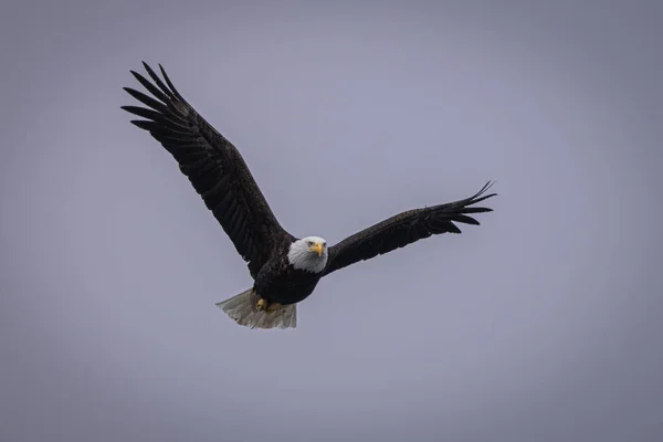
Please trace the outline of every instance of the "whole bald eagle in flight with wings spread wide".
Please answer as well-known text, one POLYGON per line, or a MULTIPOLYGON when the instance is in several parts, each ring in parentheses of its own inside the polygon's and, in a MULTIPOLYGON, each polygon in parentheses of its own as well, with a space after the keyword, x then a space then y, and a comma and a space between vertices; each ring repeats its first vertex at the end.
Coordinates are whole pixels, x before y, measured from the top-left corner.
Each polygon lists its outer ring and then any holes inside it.
POLYGON ((172 155, 248 263, 251 288, 217 304, 240 325, 294 328, 297 303, 323 276, 433 234, 461 233, 454 223, 478 225, 471 214, 492 211, 474 206, 496 194, 486 194, 488 181, 470 198, 404 211, 335 245, 319 236, 296 238, 274 217, 239 150, 180 95, 160 64, 162 80, 143 65, 152 82, 130 72, 151 96, 124 90, 147 107, 122 108, 141 117, 131 123, 172 155))

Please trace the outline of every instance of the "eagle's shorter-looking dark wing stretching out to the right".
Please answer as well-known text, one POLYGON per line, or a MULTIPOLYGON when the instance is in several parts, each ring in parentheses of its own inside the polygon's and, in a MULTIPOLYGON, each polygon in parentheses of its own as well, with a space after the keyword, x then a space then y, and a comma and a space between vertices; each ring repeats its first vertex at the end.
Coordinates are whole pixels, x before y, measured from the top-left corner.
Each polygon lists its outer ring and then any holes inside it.
POLYGON ((491 186, 493 183, 488 181, 476 194, 464 200, 399 213, 346 238, 329 248, 325 274, 403 248, 433 234, 461 233, 454 222, 478 225, 478 221, 469 214, 493 210, 472 207, 496 194, 484 194, 491 186))

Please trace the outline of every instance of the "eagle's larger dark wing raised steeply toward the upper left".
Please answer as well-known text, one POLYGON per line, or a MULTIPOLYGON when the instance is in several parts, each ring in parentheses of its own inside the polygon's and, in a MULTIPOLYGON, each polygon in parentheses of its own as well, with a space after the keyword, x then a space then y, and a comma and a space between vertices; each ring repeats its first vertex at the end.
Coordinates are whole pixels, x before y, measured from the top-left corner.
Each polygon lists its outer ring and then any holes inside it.
POLYGON ((272 242, 290 233, 276 220, 238 149, 187 103, 161 65, 166 84, 143 64, 154 84, 130 72, 154 97, 125 87, 147 107, 122 108, 145 118, 131 123, 148 130, 175 157, 255 277, 275 249, 272 242))

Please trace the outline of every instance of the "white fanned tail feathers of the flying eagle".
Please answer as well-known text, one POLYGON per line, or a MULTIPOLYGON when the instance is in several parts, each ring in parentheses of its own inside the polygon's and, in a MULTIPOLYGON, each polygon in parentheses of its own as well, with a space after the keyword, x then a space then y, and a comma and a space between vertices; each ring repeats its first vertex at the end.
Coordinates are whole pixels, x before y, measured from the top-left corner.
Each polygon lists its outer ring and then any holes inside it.
POLYGON ((239 325, 251 328, 295 328, 297 326, 297 305, 284 305, 276 312, 261 312, 255 307, 257 295, 252 288, 236 296, 217 303, 228 316, 239 325))

